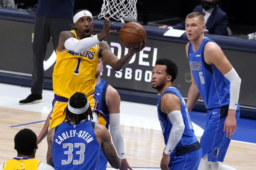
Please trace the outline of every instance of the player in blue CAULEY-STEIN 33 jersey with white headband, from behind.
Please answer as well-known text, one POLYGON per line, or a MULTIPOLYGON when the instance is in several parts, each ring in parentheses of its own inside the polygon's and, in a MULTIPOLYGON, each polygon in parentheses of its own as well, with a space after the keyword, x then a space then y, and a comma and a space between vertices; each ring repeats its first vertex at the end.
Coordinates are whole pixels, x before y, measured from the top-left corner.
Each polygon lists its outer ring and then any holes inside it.
POLYGON ((65 122, 52 128, 47 135, 47 162, 58 169, 95 169, 99 167, 100 148, 113 168, 118 169, 121 159, 111 142, 106 127, 88 120, 92 111, 87 97, 76 92, 64 111, 65 122))

